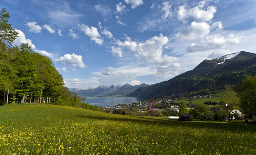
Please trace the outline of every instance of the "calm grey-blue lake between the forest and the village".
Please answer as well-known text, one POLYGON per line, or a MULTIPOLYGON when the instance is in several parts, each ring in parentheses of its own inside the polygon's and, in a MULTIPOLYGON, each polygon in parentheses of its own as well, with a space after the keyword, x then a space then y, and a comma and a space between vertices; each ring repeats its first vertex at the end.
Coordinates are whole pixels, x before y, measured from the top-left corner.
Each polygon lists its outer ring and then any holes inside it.
POLYGON ((118 105, 119 103, 132 103, 132 102, 140 102, 142 98, 138 97, 87 97, 84 103, 89 103, 91 105, 97 104, 99 107, 106 107, 106 106, 114 106, 118 105))

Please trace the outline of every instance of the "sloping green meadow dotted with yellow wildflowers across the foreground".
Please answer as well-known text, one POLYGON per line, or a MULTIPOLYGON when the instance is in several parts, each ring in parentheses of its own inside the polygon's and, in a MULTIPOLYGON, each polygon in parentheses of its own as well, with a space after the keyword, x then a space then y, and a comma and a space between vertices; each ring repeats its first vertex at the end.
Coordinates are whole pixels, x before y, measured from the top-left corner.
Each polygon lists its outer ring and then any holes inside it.
POLYGON ((0 154, 256 154, 256 125, 168 120, 84 109, 0 107, 0 154))

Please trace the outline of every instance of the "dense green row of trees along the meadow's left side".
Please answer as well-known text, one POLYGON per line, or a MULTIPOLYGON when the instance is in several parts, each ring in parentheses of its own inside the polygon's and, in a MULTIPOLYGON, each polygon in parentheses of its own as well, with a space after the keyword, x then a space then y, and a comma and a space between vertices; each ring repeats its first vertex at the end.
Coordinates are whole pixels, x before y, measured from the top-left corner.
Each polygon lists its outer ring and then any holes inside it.
POLYGON ((0 105, 47 103, 84 109, 99 107, 82 103, 64 87, 62 75, 46 56, 35 53, 28 43, 12 46, 18 32, 11 27, 10 15, 0 11, 0 105))

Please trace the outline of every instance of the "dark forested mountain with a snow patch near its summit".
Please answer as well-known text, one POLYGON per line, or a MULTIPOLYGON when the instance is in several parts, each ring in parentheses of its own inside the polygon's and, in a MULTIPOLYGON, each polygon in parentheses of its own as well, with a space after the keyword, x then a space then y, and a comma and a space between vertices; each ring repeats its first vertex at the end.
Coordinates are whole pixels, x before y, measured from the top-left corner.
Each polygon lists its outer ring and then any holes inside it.
POLYGON ((256 74, 256 54, 240 51, 213 60, 204 60, 193 70, 154 85, 139 87, 127 96, 204 95, 223 90, 225 84, 237 85, 246 75, 256 74))

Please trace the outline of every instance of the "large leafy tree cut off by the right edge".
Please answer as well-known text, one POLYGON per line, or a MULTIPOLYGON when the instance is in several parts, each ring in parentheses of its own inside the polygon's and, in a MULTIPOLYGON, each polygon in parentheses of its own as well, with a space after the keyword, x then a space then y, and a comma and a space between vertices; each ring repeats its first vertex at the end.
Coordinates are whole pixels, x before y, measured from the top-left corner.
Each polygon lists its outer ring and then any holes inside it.
POLYGON ((256 111, 256 75, 246 76, 237 86, 236 93, 240 98, 240 108, 245 114, 256 111))

